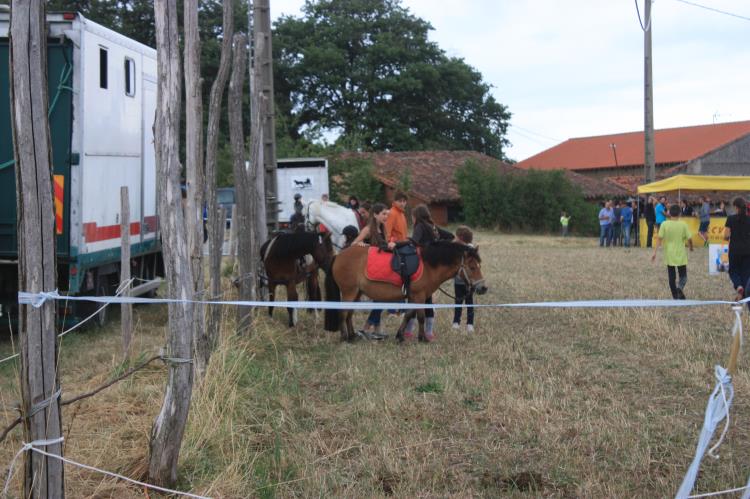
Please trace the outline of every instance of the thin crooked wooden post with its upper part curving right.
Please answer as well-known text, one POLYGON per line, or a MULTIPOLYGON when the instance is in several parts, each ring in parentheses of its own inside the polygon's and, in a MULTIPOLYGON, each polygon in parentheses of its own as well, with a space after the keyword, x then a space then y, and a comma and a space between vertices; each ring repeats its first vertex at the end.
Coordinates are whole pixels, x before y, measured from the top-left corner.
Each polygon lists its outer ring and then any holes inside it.
MULTIPOLYGON (((216 200, 216 150, 219 143, 219 120, 221 118, 221 101, 224 97, 224 89, 229 79, 229 63, 232 57, 232 36, 234 35, 234 1, 224 0, 224 21, 222 33, 224 38, 221 41, 221 60, 219 61, 219 71, 216 73, 211 85, 211 98, 208 104, 208 128, 206 129, 206 192, 208 204, 208 273, 209 289, 211 298, 218 300, 221 298, 221 256, 224 245, 224 224, 226 215, 220 215, 219 203, 216 200)), ((226 213, 221 210, 221 213, 226 213)), ((209 307, 208 316, 208 352, 200 350, 196 352, 197 356, 208 356, 216 346, 216 338, 219 334, 221 323, 221 305, 212 305, 209 307)))

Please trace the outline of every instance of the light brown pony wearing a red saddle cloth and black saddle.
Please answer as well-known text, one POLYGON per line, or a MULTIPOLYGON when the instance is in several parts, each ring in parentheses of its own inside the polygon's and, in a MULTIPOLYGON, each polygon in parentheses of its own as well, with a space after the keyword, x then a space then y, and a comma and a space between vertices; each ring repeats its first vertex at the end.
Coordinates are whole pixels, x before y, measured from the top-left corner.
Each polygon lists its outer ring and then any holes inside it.
MULTIPOLYGON (((373 301, 400 302, 404 295, 400 286, 371 281, 366 277, 369 247, 352 246, 334 257, 331 271, 326 274, 326 299, 328 301, 357 301, 362 294, 373 301)), ((460 275, 477 294, 487 292, 482 277, 481 259, 476 248, 460 243, 437 241, 422 249, 424 270, 422 276, 409 286, 408 302, 425 303, 428 297, 448 279, 460 275)), ((355 338, 351 310, 326 310, 325 328, 341 331, 341 340, 355 338)), ((424 340, 424 310, 410 310, 404 314, 396 339, 403 341, 404 330, 414 316, 419 320, 419 339, 424 340)))

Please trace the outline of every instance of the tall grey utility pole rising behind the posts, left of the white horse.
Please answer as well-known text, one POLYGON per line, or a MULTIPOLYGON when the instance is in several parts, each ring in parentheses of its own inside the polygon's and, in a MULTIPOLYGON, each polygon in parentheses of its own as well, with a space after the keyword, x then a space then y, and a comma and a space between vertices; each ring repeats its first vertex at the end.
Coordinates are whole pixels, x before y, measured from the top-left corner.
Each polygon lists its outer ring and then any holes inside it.
POLYGON ((255 92, 262 98, 260 119, 263 137, 263 172, 265 173, 266 214, 269 231, 278 227, 279 199, 276 186, 276 125, 273 101, 273 55, 271 50, 270 0, 253 1, 252 45, 253 68, 257 75, 255 92))

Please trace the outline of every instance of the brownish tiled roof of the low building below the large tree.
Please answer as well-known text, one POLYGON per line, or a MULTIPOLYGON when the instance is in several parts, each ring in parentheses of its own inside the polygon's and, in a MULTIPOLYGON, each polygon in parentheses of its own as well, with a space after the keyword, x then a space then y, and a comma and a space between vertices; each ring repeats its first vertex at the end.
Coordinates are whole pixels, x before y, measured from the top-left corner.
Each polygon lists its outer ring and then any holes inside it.
POLYGON ((409 171, 409 193, 426 203, 461 200, 454 175, 468 159, 494 166, 503 173, 519 171, 499 159, 475 151, 346 152, 339 157, 372 160, 375 177, 389 187, 398 186, 403 173, 409 171))

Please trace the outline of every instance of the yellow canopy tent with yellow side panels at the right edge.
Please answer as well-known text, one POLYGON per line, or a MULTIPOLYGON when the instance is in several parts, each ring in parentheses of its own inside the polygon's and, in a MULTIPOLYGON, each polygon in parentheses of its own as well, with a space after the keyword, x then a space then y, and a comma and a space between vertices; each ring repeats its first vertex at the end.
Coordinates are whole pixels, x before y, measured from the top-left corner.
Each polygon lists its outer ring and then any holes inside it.
MULTIPOLYGON (((729 177, 720 175, 675 175, 657 182, 638 186, 638 194, 665 194, 677 192, 680 199, 682 191, 750 191, 750 177, 729 177)), ((698 219, 687 218, 690 232, 693 234, 693 243, 702 244, 703 240, 698 236, 698 219)), ((723 238, 725 217, 711 217, 711 224, 707 232, 709 242, 712 244, 726 244, 723 238)), ((641 219, 641 245, 646 242, 646 222, 641 219)))

